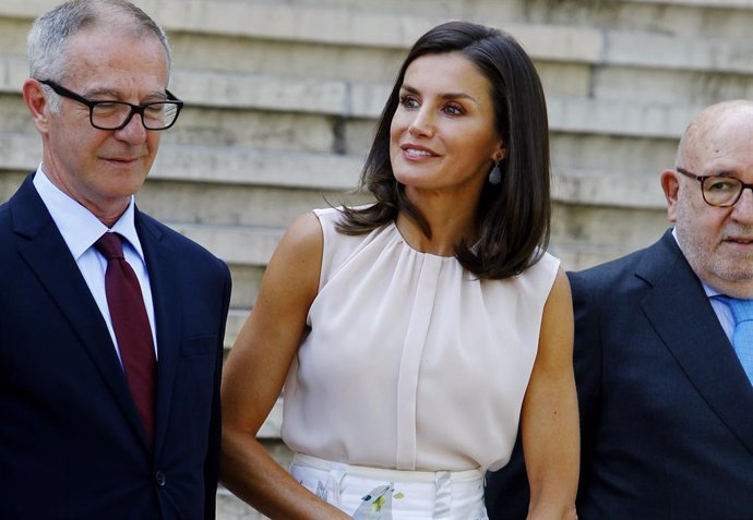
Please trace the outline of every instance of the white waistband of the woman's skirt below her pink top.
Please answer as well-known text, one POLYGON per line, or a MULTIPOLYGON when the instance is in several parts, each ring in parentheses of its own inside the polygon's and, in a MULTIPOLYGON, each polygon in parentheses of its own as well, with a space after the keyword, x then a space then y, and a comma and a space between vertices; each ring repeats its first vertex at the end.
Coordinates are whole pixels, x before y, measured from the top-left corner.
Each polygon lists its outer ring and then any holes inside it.
POLYGON ((426 482, 434 483, 439 475, 450 475, 451 482, 471 482, 482 481, 481 470, 466 471, 411 471, 411 470, 387 470, 384 468, 373 468, 368 465, 351 465, 342 462, 333 462, 310 455, 295 454, 291 465, 301 465, 322 471, 338 469, 344 474, 361 476, 364 479, 383 480, 386 482, 426 482))

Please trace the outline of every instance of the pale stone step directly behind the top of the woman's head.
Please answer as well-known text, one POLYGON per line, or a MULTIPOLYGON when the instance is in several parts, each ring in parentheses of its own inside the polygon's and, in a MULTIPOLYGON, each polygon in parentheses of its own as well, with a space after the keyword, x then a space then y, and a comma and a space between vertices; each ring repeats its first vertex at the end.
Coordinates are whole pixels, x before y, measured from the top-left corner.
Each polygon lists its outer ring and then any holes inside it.
MULTIPOLYGON (((48 0, 5 0, 0 7, 0 16, 31 20, 55 3, 48 0)), ((463 14, 463 10, 426 15, 326 4, 280 5, 266 1, 143 0, 136 3, 162 21, 168 31, 176 33, 403 50, 431 26, 463 14)), ((708 7, 721 9, 716 4, 708 7)), ((729 35, 725 33, 717 37, 698 37, 688 34, 683 27, 668 34, 666 29, 650 31, 650 26, 636 29, 630 24, 625 24, 625 28, 619 25, 599 28, 525 23, 524 11, 519 11, 511 23, 509 14, 507 9, 495 7, 480 21, 504 27, 536 60, 753 72, 753 40, 750 38, 727 39, 729 35)), ((746 11, 742 14, 751 15, 746 11)), ((473 15, 461 17, 474 19, 473 15)))

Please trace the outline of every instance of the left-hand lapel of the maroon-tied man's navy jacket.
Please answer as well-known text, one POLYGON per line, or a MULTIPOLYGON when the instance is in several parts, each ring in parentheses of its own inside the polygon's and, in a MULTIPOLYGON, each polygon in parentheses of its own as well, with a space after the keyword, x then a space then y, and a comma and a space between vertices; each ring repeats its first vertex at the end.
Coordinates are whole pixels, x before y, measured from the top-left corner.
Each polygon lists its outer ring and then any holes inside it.
POLYGON ((70 323, 123 414, 144 437, 107 325, 32 179, 10 201, 19 254, 70 323))

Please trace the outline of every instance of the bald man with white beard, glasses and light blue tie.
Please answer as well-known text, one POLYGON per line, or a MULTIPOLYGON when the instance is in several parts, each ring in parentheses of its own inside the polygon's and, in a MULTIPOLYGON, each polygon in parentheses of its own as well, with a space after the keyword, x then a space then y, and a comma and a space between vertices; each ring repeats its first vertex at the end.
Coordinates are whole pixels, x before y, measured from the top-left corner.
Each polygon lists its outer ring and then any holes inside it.
MULTIPOLYGON (((668 230, 570 273, 581 520, 753 519, 753 102, 702 111, 661 173, 668 230)), ((517 452, 491 520, 524 519, 517 452)))

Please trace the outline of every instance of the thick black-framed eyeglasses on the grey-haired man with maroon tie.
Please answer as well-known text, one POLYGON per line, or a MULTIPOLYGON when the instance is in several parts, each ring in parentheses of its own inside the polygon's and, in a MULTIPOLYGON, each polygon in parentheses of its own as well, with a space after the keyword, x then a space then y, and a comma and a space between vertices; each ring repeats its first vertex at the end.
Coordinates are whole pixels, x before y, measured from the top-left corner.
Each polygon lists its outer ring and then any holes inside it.
POLYGON ((165 101, 132 105, 125 101, 94 101, 55 82, 39 80, 39 83, 49 86, 60 96, 86 105, 92 126, 99 130, 123 129, 136 113, 141 116, 141 123, 146 130, 167 130, 175 124, 180 109, 183 108, 183 101, 175 97, 170 90, 166 90, 165 101))

